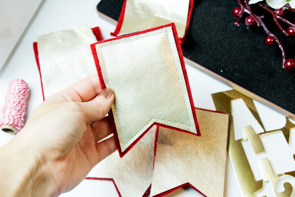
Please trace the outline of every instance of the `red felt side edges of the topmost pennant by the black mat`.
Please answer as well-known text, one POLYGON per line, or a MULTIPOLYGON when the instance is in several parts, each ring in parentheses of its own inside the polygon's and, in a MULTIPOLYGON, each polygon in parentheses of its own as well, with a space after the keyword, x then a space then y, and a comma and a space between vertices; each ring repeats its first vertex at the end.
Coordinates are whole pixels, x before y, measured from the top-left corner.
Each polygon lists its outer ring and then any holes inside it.
MULTIPOLYGON (((124 21, 124 15, 125 15, 125 9, 126 9, 126 1, 127 0, 124 0, 123 2, 123 6, 122 6, 122 9, 121 9, 121 12, 120 12, 120 16, 119 16, 119 19, 118 19, 118 23, 117 23, 117 27, 115 29, 114 32, 111 33, 112 36, 118 36, 120 30, 121 30, 121 27, 122 27, 122 24, 123 24, 123 21, 124 21)), ((186 30, 185 30, 185 34, 183 36, 183 38, 178 38, 179 39, 179 42, 182 44, 186 38, 186 33, 189 29, 189 22, 191 20, 191 13, 193 11, 193 6, 194 6, 194 0, 190 0, 189 1, 189 12, 188 12, 188 16, 187 16, 187 22, 186 22, 186 30)))

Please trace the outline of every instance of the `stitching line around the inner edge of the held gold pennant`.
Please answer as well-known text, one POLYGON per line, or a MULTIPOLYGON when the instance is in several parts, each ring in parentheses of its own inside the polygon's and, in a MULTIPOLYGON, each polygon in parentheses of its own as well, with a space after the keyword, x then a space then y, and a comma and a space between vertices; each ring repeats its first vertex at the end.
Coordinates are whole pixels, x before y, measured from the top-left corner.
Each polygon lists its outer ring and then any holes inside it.
MULTIPOLYGON (((128 43, 128 42, 131 42, 131 41, 135 41, 135 40, 139 40, 139 39, 142 39, 142 38, 147 38, 147 37, 150 37, 150 36, 159 35, 159 34, 163 34, 163 33, 166 33, 166 35, 167 35, 168 43, 169 43, 169 47, 170 47, 170 50, 171 50, 171 53, 172 53, 172 57, 173 57, 173 61, 174 61, 174 64, 176 65, 175 58, 174 58, 174 55, 173 55, 173 51, 172 51, 172 48, 171 48, 171 44, 170 44, 170 42, 169 42, 170 40, 169 40, 169 37, 168 37, 168 32, 167 32, 167 30, 166 30, 166 31, 163 31, 163 32, 160 32, 160 33, 158 33, 158 34, 147 35, 147 36, 144 36, 144 37, 136 38, 136 39, 134 39, 134 40, 122 41, 122 42, 119 42, 119 43, 114 43, 114 44, 111 44, 111 45, 107 45, 107 46, 101 47, 101 50, 102 50, 103 48, 105 48, 105 47, 108 47, 108 46, 113 46, 113 45, 117 45, 117 44, 121 44, 121 43, 128 43)), ((105 58, 104 58, 104 54, 102 53, 102 51, 101 51, 101 55, 102 55, 102 58, 105 59, 105 58)), ((109 84, 110 84, 110 80, 109 80, 109 76, 108 76, 108 72, 107 72, 106 66, 105 66, 105 70, 106 70, 106 78, 107 78, 107 80, 108 80, 108 82, 109 82, 109 84)), ((180 75, 179 75, 179 72, 178 72, 178 69, 177 69, 177 68, 176 68, 176 71, 177 71, 178 78, 179 78, 179 81, 180 81, 180 75)), ((110 86, 111 86, 111 85, 110 85, 110 86)), ((182 87, 181 84, 180 84, 180 86, 181 86, 181 91, 184 93, 184 91, 183 91, 183 87, 182 87)), ((184 99, 184 103, 185 103, 185 105, 186 105, 186 100, 185 100, 184 95, 183 95, 183 99, 184 99)), ((113 106, 114 106, 115 111, 116 111, 116 117, 117 117, 117 120, 118 120, 118 123, 119 123, 119 128, 120 128, 120 132, 121 132, 122 139, 123 139, 123 142, 124 142, 124 146, 126 146, 130 141, 132 141, 132 140, 137 136, 138 133, 140 133, 142 130, 144 130, 147 126, 145 126, 145 127, 142 128, 140 131, 138 131, 138 132, 135 134, 135 136, 133 136, 128 142, 125 142, 124 137, 123 137, 123 133, 122 133, 122 128, 121 128, 121 125, 120 125, 120 122, 119 122, 119 117, 118 117, 118 115, 117 115, 116 106, 115 106, 115 104, 113 104, 113 106)), ((187 114, 189 114, 189 111, 188 111, 188 107, 187 107, 187 105, 186 105, 186 112, 187 112, 187 114)), ((188 115, 188 118, 189 118, 189 115, 188 115)), ((190 119, 190 118, 189 118, 189 119, 190 119)), ((183 124, 180 124, 180 123, 174 123, 174 122, 171 122, 171 121, 163 121, 163 120, 159 120, 159 119, 156 119, 156 118, 153 118, 152 121, 153 121, 153 120, 156 120, 156 121, 162 121, 162 122, 166 122, 166 123, 173 123, 173 124, 181 125, 181 126, 184 126, 184 127, 187 127, 187 128, 190 128, 190 129, 191 129, 191 126, 189 127, 189 126, 186 126, 186 125, 183 125, 183 124)), ((150 121, 150 122, 151 122, 151 121, 150 121)), ((150 122, 149 122, 149 123, 150 123, 150 122)), ((148 125, 149 125, 149 124, 148 124, 148 125)))

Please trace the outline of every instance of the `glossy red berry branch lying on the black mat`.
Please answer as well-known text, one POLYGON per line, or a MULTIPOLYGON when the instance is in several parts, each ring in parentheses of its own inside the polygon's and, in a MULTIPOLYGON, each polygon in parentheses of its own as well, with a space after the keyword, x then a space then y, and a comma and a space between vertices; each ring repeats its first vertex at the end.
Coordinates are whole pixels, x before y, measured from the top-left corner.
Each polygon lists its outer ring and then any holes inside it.
MULTIPOLYGON (((263 22, 263 18, 264 16, 257 16, 255 14, 253 14, 253 12, 251 11, 250 5, 249 5, 249 0, 245 0, 244 4, 242 3, 242 1, 237 0, 237 2, 240 4, 240 7, 235 7, 232 11, 232 14, 237 17, 237 20, 234 22, 235 25, 237 25, 238 27, 240 26, 240 19, 242 17, 242 15, 244 13, 249 14, 248 17, 246 17, 245 19, 245 24, 250 27, 253 26, 255 24, 257 24, 257 26, 261 26, 263 27, 264 31, 266 32, 266 34, 268 35, 268 37, 266 37, 265 39, 265 43, 266 45, 273 45, 275 43, 278 44, 278 47, 281 49, 281 53, 282 53, 282 68, 286 68, 288 70, 294 70, 295 69, 295 60, 290 58, 290 59, 286 59, 286 55, 285 55, 285 50, 283 48, 283 45, 281 43, 281 41, 278 39, 278 37, 276 37, 273 33, 271 33, 266 25, 263 22)), ((278 26, 278 28, 280 28, 280 30, 286 35, 286 36, 295 36, 295 21, 294 23, 288 21, 287 19, 283 18, 283 15, 285 14, 285 10, 288 10, 290 12, 295 12, 295 9, 292 9, 290 7, 289 4, 286 4, 286 6, 283 6, 280 9, 275 9, 274 11, 272 9, 269 8, 268 5, 266 4, 260 4, 258 3, 258 5, 266 10, 267 12, 269 12, 272 16, 273 19, 276 23, 276 25, 278 26), (286 23, 287 25, 289 25, 288 29, 285 30, 278 22, 278 20, 286 23)))

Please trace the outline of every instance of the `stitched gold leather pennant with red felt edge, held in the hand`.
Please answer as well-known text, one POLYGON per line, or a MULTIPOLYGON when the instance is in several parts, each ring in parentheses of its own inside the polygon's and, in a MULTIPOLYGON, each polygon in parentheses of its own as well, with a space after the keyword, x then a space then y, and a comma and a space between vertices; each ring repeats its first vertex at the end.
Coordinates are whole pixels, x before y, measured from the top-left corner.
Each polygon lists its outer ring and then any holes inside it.
POLYGON ((102 87, 114 90, 109 112, 122 157, 153 126, 200 136, 174 24, 91 45, 102 87))

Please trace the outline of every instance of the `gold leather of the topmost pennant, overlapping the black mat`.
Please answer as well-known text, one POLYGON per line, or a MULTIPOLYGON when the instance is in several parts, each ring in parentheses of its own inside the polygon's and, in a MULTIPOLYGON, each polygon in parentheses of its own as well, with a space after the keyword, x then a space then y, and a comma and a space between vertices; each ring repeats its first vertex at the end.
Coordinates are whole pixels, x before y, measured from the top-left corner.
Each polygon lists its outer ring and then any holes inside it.
POLYGON ((150 29, 174 22, 183 38, 189 12, 189 0, 127 0, 124 20, 118 35, 150 29))

